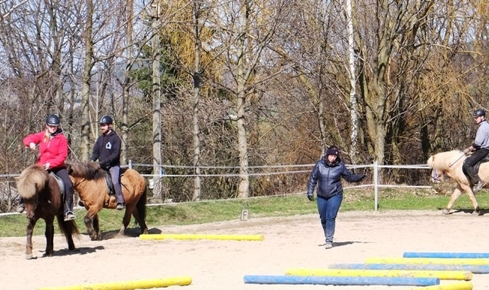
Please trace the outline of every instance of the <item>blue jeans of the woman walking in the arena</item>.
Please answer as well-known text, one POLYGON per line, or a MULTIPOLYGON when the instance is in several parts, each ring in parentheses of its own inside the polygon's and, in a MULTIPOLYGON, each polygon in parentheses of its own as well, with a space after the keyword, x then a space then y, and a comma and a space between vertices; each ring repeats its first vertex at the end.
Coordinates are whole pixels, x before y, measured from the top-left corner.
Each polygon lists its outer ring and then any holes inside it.
POLYGON ((342 204, 343 194, 333 195, 328 199, 317 197, 316 200, 322 230, 325 231, 326 243, 332 243, 333 236, 335 236, 336 216, 339 206, 342 204))

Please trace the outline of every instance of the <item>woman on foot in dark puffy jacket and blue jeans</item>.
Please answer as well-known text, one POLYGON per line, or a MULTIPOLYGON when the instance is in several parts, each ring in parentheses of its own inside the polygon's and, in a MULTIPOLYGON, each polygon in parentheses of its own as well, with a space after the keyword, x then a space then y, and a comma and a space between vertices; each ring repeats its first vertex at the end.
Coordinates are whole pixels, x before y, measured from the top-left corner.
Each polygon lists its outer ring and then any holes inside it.
POLYGON ((326 248, 332 248, 336 216, 342 204, 343 185, 340 178, 348 182, 359 182, 366 178, 366 175, 350 173, 339 157, 337 147, 331 146, 327 149, 326 155, 317 161, 308 182, 310 201, 314 200, 314 188, 317 185, 317 209, 325 233, 326 248))

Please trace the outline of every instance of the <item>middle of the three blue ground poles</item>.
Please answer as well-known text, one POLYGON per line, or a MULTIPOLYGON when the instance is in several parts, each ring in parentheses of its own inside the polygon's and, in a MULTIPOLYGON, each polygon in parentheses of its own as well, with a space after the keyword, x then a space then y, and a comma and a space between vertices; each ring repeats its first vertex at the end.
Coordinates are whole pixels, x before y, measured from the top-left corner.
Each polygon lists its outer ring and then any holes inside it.
POLYGON ((489 274, 489 266, 482 265, 420 265, 420 264, 331 264, 329 269, 382 269, 382 270, 427 270, 468 271, 473 274, 489 274))

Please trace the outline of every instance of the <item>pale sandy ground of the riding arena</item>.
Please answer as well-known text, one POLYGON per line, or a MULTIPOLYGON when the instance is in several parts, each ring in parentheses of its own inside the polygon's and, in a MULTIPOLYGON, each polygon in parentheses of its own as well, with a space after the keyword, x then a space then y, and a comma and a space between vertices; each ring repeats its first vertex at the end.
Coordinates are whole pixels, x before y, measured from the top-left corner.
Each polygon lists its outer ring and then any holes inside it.
MULTIPOLYGON (((0 289, 37 289, 190 276, 189 286, 162 289, 411 289, 412 286, 323 286, 244 284, 246 274, 282 275, 290 268, 327 268, 363 263, 367 257, 402 257, 404 252, 489 252, 489 214, 441 211, 340 212, 335 246, 325 250, 319 216, 254 218, 193 226, 150 228, 150 233, 262 234, 262 241, 140 240, 129 236, 75 240, 77 252, 55 238, 55 256, 42 257, 45 238, 36 236, 35 260, 26 260, 25 237, 0 238, 0 289)), ((43 221, 38 222, 43 226, 43 221)), ((80 225, 82 233, 84 225, 80 225)), ((442 284, 448 282, 442 281, 442 284)), ((452 282, 453 283, 453 282, 452 282)), ((473 289, 489 289, 489 274, 474 274, 473 289)))

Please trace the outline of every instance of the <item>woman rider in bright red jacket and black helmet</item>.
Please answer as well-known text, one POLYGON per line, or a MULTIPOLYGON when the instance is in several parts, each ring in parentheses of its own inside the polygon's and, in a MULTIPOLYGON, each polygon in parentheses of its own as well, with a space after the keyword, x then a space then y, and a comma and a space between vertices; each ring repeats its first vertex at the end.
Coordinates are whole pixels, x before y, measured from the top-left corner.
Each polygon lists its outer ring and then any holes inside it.
MULTIPOLYGON (((73 214, 73 184, 69 179, 68 171, 64 167, 64 161, 68 156, 68 141, 64 137, 60 126, 60 118, 57 115, 49 115, 46 118, 46 129, 42 132, 30 134, 23 139, 23 144, 32 150, 39 144, 38 164, 47 171, 55 173, 64 183, 64 220, 71 221, 73 214)), ((22 200, 17 212, 23 212, 22 200)))

